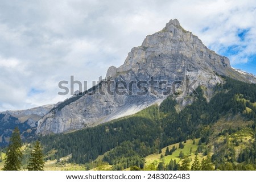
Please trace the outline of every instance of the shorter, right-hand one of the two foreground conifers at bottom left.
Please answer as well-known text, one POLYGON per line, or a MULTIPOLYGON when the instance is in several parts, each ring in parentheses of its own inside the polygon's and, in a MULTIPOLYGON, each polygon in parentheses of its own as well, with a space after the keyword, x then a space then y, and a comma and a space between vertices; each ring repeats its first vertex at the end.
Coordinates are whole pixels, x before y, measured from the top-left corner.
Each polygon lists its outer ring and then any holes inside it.
POLYGON ((31 152, 30 161, 28 163, 28 171, 44 170, 44 155, 39 141, 36 141, 35 147, 31 152))

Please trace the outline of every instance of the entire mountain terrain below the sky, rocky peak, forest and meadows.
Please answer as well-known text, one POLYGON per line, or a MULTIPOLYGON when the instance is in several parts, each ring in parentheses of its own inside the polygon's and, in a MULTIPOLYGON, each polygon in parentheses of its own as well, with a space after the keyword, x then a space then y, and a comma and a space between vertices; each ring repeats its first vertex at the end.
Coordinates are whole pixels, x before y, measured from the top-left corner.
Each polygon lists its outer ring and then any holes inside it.
POLYGON ((93 88, 0 113, 1 140, 19 126, 23 169, 37 139, 50 170, 255 170, 255 83, 175 19, 93 88))

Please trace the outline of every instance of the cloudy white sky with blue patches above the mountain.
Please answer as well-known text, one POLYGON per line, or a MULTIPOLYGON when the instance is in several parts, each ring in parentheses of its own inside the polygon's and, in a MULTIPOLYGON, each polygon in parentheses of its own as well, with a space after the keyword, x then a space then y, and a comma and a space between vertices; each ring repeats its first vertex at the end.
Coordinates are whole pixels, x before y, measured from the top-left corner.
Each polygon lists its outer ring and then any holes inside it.
POLYGON ((71 97, 57 94, 60 81, 73 76, 89 87, 175 18, 256 75, 255 17, 254 0, 0 0, 0 111, 71 97))

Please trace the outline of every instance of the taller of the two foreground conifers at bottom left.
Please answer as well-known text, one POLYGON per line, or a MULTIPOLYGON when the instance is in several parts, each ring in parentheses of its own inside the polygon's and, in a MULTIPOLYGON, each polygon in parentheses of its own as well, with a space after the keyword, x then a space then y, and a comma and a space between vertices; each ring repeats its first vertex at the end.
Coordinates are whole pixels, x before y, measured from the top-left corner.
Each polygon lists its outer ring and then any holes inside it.
POLYGON ((22 141, 19 135, 19 129, 16 127, 10 138, 10 144, 7 148, 5 166, 3 166, 4 171, 18 171, 22 166, 22 151, 20 147, 22 146, 22 141))

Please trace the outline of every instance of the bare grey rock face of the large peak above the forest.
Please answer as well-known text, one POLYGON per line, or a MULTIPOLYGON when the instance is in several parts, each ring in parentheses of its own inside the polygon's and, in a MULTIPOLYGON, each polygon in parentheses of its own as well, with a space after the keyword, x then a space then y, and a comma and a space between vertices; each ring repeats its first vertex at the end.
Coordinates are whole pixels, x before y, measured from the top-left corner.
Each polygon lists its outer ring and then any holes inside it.
POLYGON ((220 75, 256 82, 230 67, 227 57, 204 46, 178 20, 170 20, 131 49, 121 67, 110 67, 100 84, 53 107, 39 120, 37 134, 64 133, 134 114, 159 104, 167 93, 179 94, 182 107, 192 102, 185 96, 199 85, 210 98, 213 86, 222 82, 220 75))

